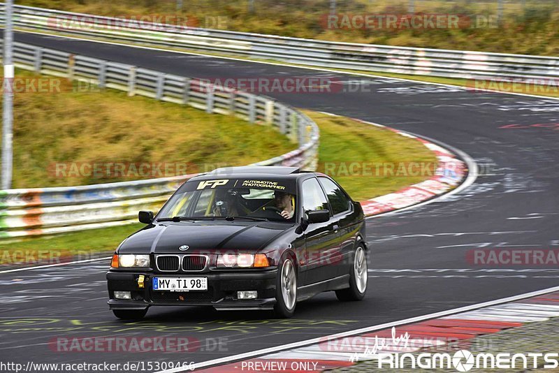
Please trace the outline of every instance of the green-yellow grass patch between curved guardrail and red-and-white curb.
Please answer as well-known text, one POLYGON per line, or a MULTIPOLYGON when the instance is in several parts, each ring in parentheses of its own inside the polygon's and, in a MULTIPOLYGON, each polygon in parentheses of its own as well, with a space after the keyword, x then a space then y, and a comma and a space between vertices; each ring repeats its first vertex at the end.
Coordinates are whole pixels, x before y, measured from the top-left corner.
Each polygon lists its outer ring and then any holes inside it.
POLYGON ((354 200, 398 191, 428 179, 436 168, 433 152, 415 139, 347 117, 305 113, 320 127, 318 170, 354 200))

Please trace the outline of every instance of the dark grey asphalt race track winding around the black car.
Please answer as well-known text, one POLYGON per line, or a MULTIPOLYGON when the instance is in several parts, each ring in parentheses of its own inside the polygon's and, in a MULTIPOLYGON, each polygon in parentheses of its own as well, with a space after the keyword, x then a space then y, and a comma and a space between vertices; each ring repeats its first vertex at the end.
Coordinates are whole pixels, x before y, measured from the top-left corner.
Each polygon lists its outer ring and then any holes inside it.
MULTIPOLYGON (((0 274, 1 360, 199 363, 559 284, 557 265, 511 266, 508 268, 513 270, 507 271, 506 265, 467 261, 467 253, 479 247, 559 249, 559 131, 558 126, 537 126, 559 123, 557 100, 471 93, 419 82, 51 36, 16 34, 15 39, 191 77, 321 76, 340 80, 343 89, 337 93, 270 96, 298 108, 356 117, 440 140, 472 156, 481 166, 481 175, 472 186, 444 202, 368 219, 372 255, 365 300, 341 303, 333 293, 324 293, 298 304, 293 319, 269 319, 259 312, 153 307, 145 321, 126 323, 117 321, 106 305, 109 263, 0 274), (356 80, 359 83, 348 89, 356 80), (525 128, 501 128, 511 124, 525 128), (180 336, 200 344, 187 353, 65 353, 52 344, 57 337, 99 336, 180 336)), ((164 123, 154 126, 166 130, 164 123)))

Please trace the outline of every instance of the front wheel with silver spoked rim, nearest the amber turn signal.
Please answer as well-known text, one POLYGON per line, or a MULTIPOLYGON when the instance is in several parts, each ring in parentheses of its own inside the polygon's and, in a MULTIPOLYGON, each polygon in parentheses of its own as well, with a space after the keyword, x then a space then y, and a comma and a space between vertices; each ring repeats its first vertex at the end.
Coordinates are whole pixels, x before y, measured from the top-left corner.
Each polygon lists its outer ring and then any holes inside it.
POLYGON ((285 258, 277 272, 274 306, 275 316, 286 319, 295 314, 297 304, 297 273, 291 258, 285 258))

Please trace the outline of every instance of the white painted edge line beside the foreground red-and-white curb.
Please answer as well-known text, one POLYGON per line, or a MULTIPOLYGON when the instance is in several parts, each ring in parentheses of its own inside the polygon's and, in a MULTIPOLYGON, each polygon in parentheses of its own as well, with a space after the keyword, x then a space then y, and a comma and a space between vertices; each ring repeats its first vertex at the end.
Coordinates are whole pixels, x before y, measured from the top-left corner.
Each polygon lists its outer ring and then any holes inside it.
MULTIPOLYGON (((532 291, 530 293, 513 295, 513 296, 507 297, 507 298, 490 300, 488 302, 477 303, 476 305, 458 307, 458 308, 454 308, 454 309, 448 309, 447 311, 435 312, 433 314, 426 314, 426 315, 423 315, 423 316, 416 316, 416 317, 412 317, 412 318, 404 319, 404 320, 400 320, 400 321, 393 321, 391 323, 384 323, 384 324, 379 324, 379 325, 375 325, 375 326, 368 326, 366 328, 349 330, 347 332, 340 332, 340 333, 333 334, 333 335, 328 335, 328 336, 325 336, 325 337, 306 339, 306 340, 300 341, 300 342, 293 342, 293 343, 289 343, 289 344, 282 344, 281 346, 268 347, 268 349, 261 349, 261 350, 251 351, 251 352, 239 353, 238 355, 227 356, 226 358, 218 358, 218 359, 214 359, 214 360, 208 360, 208 361, 204 361, 203 363, 194 364, 192 366, 191 370, 201 369, 203 367, 210 367, 212 365, 222 365, 222 364, 225 364, 225 363, 231 363, 231 362, 238 361, 238 360, 245 360, 245 359, 248 359, 248 358, 256 358, 258 356, 266 355, 268 353, 275 353, 275 352, 278 352, 278 351, 296 349, 297 347, 308 346, 310 344, 317 344, 317 343, 320 343, 320 342, 326 342, 326 341, 331 340, 331 339, 350 337, 352 335, 360 335, 360 334, 363 334, 365 332, 373 332, 375 330, 391 328, 393 326, 400 326, 400 325, 408 324, 408 323, 416 323, 418 321, 424 321, 424 320, 428 320, 428 319, 436 319, 436 318, 439 318, 439 317, 442 317, 442 316, 449 316, 451 314, 458 314, 458 313, 461 313, 461 312, 472 311, 472 309, 480 309, 480 308, 484 308, 484 307, 490 307, 490 306, 493 306, 493 305, 500 305, 502 303, 514 302, 515 300, 532 298, 532 297, 535 297, 537 295, 542 295, 542 294, 546 294, 546 293, 553 293, 554 291, 559 291, 559 286, 554 286, 553 288, 545 288, 545 289, 538 290, 538 291, 532 291)), ((160 370, 159 372, 155 372, 155 373, 186 372, 187 370, 188 369, 185 369, 184 367, 178 367, 178 368, 173 368, 173 369, 170 369, 170 370, 160 370)))

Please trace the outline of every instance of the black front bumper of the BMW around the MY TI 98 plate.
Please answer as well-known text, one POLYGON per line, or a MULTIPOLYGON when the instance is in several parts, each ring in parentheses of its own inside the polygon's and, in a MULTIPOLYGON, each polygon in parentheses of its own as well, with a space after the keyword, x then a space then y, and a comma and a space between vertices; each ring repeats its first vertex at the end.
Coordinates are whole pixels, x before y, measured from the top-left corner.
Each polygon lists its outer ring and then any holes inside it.
POLYGON ((263 271, 196 272, 107 272, 110 309, 146 309, 150 306, 212 306, 220 310, 272 309, 275 305, 277 268, 263 271), (143 275, 144 287, 138 284, 143 275), (154 291, 153 277, 208 277, 208 291, 154 291), (131 300, 115 299, 115 291, 130 291, 131 300), (237 291, 257 291, 254 300, 238 300, 237 291))

